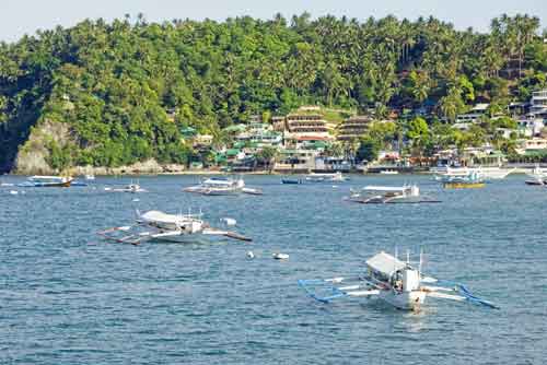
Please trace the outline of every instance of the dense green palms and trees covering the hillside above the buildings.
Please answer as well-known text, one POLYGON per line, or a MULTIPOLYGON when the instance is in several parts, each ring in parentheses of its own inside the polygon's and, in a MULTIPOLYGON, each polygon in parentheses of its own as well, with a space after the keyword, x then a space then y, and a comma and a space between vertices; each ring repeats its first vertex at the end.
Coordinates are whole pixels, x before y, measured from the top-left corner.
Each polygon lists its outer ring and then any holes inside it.
MULTIPOLYGON (((148 24, 139 16, 38 32, 0 44, 0 166, 10 166, 43 120, 71 130, 71 149, 48 146, 50 164, 118 166, 149 157, 186 163, 193 151, 182 128, 222 141, 223 127, 302 104, 373 107, 382 117, 429 101, 449 120, 475 101, 502 109, 546 85, 538 26, 536 17, 503 15, 479 34, 433 17, 304 13, 290 22, 148 24)), ((419 123, 408 137, 421 151, 430 134, 419 123)))

